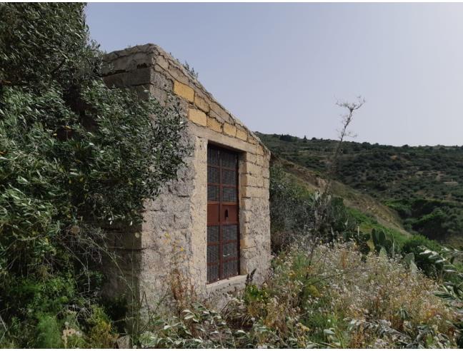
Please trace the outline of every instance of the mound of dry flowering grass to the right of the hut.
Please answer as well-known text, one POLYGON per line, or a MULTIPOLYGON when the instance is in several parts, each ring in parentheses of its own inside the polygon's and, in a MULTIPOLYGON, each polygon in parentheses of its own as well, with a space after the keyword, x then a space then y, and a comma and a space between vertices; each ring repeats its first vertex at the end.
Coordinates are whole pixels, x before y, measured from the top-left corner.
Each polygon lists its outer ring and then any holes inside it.
POLYGON ((302 325, 319 346, 454 345, 456 313, 434 295, 434 281, 399 258, 362 256, 352 243, 309 252, 299 245, 277 258, 272 278, 247 297, 252 317, 282 337, 302 325))

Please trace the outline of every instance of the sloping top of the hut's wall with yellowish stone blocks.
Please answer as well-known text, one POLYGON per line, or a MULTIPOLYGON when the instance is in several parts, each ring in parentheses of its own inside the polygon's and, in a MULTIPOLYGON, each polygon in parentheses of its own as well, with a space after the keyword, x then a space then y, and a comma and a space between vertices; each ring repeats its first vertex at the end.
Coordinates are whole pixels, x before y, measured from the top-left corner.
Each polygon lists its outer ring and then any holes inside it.
POLYGON ((269 150, 247 126, 221 105, 183 64, 156 44, 145 44, 113 51, 104 57, 106 83, 124 86, 151 84, 154 95, 173 91, 189 102, 193 123, 220 131, 226 136, 259 144, 269 150))

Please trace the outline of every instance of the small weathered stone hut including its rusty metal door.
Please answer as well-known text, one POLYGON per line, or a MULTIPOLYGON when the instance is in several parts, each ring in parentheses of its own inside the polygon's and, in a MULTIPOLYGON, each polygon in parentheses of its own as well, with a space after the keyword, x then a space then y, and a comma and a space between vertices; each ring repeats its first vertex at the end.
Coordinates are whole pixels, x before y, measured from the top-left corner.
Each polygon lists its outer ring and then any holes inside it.
POLYGON ((146 202, 141 228, 114 234, 123 261, 109 290, 121 292, 128 280, 136 298, 154 304, 172 292, 175 272, 199 297, 219 302, 253 270, 262 282, 270 263, 268 149, 159 46, 114 51, 105 61, 108 86, 178 99, 191 146, 178 180, 146 202))

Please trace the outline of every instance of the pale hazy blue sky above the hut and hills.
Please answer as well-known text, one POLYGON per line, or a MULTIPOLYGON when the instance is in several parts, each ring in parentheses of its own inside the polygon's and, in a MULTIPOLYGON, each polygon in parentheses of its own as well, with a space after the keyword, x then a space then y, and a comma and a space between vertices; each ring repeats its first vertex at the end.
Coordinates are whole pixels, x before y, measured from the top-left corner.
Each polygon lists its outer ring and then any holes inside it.
POLYGON ((252 131, 463 144, 463 4, 89 3, 104 51, 154 43, 252 131))

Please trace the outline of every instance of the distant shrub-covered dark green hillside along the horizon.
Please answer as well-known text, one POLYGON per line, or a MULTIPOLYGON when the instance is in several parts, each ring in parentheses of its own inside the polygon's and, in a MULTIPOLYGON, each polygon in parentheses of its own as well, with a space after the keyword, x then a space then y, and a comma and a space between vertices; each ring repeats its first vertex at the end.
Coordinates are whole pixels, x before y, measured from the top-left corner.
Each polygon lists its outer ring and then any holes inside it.
MULTIPOLYGON (((323 177, 336 144, 317 138, 258 135, 275 156, 309 170, 308 178, 323 177)), ((301 169, 287 166, 301 174, 301 169)), ((336 176, 339 183, 335 188, 340 195, 344 193, 347 204, 371 210, 379 223, 394 223, 398 228, 402 223, 409 232, 462 245, 463 147, 397 147, 348 141, 336 176)))

